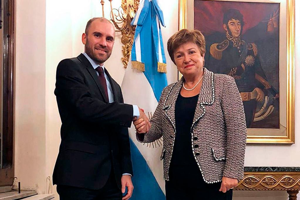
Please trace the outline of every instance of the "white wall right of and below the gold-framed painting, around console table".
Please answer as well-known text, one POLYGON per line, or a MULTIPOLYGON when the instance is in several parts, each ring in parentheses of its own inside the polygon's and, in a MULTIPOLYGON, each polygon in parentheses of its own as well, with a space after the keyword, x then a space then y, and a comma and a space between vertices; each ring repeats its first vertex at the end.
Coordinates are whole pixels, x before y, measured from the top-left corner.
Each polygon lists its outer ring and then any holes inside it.
MULTIPOLYGON (((295 11, 299 11, 300 4, 295 1, 295 11)), ((295 144, 292 145, 247 145, 245 166, 300 166, 300 137, 299 137, 299 119, 300 119, 300 93, 297 92, 300 80, 300 14, 295 12, 295 144)), ((235 200, 279 200, 288 199, 284 191, 276 192, 253 192, 253 191, 235 191, 235 200), (259 198, 258 196, 265 197, 259 198), (269 196, 269 197, 267 197, 269 196)), ((298 198, 300 194, 298 194, 298 198)))

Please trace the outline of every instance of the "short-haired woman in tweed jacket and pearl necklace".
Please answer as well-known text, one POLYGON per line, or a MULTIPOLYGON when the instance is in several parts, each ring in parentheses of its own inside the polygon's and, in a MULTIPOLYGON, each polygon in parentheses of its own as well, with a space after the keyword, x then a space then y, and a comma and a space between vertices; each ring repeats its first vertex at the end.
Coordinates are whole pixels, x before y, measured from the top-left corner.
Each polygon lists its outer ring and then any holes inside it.
POLYGON ((168 52, 183 77, 163 89, 150 129, 143 119, 134 122, 137 140, 164 136, 167 200, 232 199, 232 188, 243 178, 247 131, 235 81, 203 67, 200 31, 176 32, 168 52))

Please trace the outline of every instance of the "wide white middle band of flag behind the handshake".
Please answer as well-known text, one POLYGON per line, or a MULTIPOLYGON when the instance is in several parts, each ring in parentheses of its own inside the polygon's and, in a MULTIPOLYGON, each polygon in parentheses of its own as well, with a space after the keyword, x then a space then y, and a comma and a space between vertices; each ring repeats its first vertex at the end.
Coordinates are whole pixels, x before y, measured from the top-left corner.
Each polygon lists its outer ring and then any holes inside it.
MULTIPOLYGON (((145 113, 148 114, 148 112, 152 112, 153 115, 158 105, 153 89, 142 71, 131 68, 131 58, 129 60, 130 62, 128 62, 128 67, 125 71, 121 86, 124 102, 138 105, 140 108, 145 110, 145 113)), ((156 147, 155 145, 152 147, 151 143, 149 143, 147 146, 147 144, 138 142, 133 124, 131 128, 129 128, 129 136, 140 150, 140 153, 143 155, 144 159, 149 165, 149 168, 151 169, 161 190, 165 193, 163 161, 160 160, 162 145, 160 145, 160 147, 158 147, 158 145, 156 147), (150 144, 151 147, 149 147, 150 144)))

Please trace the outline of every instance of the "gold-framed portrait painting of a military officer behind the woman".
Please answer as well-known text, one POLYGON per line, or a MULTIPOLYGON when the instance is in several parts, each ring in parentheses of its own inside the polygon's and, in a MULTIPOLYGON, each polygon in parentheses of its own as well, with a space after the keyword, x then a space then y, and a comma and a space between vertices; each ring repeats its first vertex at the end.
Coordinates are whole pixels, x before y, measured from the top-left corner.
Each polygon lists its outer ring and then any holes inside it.
POLYGON ((208 70, 234 77, 247 143, 293 144, 295 0, 179 0, 184 28, 205 36, 208 70))

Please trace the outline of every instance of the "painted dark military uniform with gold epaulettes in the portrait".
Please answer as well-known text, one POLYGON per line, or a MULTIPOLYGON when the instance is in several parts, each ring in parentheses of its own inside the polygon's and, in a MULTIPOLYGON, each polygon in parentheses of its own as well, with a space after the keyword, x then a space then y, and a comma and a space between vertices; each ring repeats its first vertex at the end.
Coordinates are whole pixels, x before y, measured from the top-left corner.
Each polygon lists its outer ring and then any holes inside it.
POLYGON ((249 127, 256 109, 257 92, 254 89, 271 87, 260 65, 256 44, 247 44, 240 37, 234 38, 226 33, 223 42, 210 46, 209 56, 205 62, 208 70, 234 77, 243 100, 246 123, 249 127))

